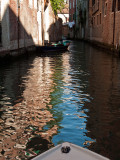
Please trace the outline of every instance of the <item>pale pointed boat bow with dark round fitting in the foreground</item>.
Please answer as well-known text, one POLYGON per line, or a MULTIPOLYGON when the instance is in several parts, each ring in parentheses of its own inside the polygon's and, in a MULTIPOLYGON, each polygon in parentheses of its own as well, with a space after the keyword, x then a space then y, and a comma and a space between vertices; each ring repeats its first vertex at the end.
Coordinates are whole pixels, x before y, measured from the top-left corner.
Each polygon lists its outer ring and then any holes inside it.
POLYGON ((109 160, 88 149, 65 142, 38 155, 33 160, 109 160))

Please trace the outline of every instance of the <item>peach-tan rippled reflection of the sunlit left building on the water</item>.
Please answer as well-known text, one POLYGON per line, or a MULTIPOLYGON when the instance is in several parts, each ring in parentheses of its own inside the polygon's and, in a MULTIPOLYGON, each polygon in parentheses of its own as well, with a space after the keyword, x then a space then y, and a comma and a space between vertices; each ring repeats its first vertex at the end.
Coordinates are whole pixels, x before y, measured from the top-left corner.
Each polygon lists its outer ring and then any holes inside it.
MULTIPOLYGON (((6 81, 10 73, 6 75, 6 81)), ((53 120, 52 114, 46 108, 50 102, 51 74, 49 58, 37 58, 32 62, 27 74, 22 76, 20 87, 24 90, 21 98, 14 103, 12 101, 8 103, 9 98, 2 95, 1 158, 4 156, 5 159, 28 159, 52 146, 50 137, 56 133, 57 126, 54 125, 46 132, 42 131, 43 126, 53 120), (3 100, 5 103, 2 104, 3 100)), ((15 82, 12 79, 9 87, 7 84, 5 89, 13 92, 14 90, 11 89, 14 85, 13 81, 15 82)), ((9 92, 7 94, 9 95, 9 92)), ((13 92, 13 97, 14 95, 13 92)))

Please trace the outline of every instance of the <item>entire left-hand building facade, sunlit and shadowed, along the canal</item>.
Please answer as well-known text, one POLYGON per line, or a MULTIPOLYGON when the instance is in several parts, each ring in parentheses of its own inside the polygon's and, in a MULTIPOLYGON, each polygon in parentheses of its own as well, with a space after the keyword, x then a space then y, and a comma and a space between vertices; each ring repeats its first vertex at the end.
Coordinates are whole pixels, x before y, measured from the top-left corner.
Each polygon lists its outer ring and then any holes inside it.
POLYGON ((0 0, 0 55, 59 40, 61 25, 47 0, 0 0))

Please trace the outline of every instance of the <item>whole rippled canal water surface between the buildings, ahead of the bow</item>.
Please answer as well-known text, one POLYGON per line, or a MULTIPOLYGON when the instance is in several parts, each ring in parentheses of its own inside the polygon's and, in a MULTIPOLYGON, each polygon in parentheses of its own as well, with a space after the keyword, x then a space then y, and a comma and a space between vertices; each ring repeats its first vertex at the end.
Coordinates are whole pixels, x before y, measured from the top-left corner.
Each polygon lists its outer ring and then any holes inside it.
POLYGON ((65 141, 120 159, 120 59, 78 41, 0 65, 0 159, 65 141))

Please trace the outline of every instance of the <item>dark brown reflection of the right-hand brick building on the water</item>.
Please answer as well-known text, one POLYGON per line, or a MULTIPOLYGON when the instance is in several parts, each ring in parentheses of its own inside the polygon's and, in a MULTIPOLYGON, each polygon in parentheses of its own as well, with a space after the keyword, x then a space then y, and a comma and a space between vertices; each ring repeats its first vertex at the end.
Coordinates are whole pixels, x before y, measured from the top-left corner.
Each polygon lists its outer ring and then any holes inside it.
POLYGON ((120 119, 118 118, 120 116, 118 109, 120 68, 118 61, 102 52, 96 54, 93 49, 91 51, 88 49, 88 51, 87 64, 91 64, 89 65, 89 91, 92 100, 91 103, 86 104, 89 109, 87 135, 96 139, 89 149, 111 160, 120 159, 120 119))

